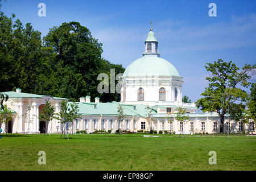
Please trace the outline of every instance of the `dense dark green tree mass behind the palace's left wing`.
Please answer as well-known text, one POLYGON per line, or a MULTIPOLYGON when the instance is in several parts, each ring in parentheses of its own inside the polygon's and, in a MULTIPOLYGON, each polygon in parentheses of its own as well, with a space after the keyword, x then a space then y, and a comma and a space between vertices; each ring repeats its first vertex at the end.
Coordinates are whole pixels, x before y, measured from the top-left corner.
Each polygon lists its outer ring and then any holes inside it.
MULTIPOLYGON (((19 87, 34 93, 79 100, 81 96, 118 101, 120 94, 98 93, 99 73, 125 71, 102 59, 102 44, 78 22, 63 23, 41 33, 30 23, 0 15, 0 92, 19 87)), ((109 79, 110 80, 110 79, 109 79)), ((117 84, 118 81, 115 81, 117 84)))

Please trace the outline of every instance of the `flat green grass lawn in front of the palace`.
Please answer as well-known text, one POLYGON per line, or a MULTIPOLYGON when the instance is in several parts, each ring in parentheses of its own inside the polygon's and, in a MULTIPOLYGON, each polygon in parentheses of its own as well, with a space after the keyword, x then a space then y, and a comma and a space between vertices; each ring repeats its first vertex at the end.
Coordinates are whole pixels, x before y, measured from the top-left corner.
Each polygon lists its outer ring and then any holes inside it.
POLYGON ((256 137, 1 136, 0 170, 256 170, 256 137), (46 165, 38 164, 39 151, 46 165), (217 152, 216 165, 209 151, 217 152))

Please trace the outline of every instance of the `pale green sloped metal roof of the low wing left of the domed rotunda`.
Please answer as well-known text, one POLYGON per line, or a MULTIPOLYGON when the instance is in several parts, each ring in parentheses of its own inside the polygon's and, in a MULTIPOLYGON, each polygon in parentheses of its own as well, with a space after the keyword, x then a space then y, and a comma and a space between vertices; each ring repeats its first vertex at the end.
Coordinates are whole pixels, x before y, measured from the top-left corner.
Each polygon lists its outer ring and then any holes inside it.
MULTIPOLYGON (((68 102, 71 104, 72 102, 68 102)), ((110 102, 110 103, 102 103, 102 102, 77 102, 79 106, 78 114, 81 115, 118 115, 118 104, 119 102, 110 102), (96 109, 94 109, 94 105, 96 105, 96 109)), ((141 116, 146 117, 146 106, 142 104, 135 104, 135 105, 124 105, 124 114, 127 116, 141 116), (135 110, 134 110, 135 106, 135 110)), ((156 112, 155 112, 156 113, 156 112)))

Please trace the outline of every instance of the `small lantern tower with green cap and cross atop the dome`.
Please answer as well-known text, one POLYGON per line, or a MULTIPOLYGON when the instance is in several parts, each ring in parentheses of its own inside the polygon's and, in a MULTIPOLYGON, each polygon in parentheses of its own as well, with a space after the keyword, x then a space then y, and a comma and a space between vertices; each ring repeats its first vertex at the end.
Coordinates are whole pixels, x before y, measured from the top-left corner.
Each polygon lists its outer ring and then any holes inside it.
POLYGON ((150 24, 151 24, 150 32, 148 32, 147 39, 144 41, 145 52, 143 52, 143 56, 160 57, 160 53, 158 53, 158 40, 156 40, 155 33, 152 31, 152 21, 150 24))

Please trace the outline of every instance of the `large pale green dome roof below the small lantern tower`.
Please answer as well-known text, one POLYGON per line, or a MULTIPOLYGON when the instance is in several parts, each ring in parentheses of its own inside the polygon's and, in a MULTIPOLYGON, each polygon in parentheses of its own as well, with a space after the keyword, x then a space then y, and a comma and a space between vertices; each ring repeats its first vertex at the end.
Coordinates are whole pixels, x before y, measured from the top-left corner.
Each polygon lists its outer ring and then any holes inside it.
POLYGON ((131 63, 123 76, 176 76, 180 77, 177 69, 165 59, 156 56, 143 56, 131 63))

